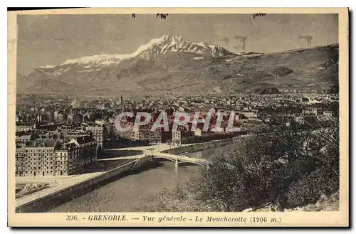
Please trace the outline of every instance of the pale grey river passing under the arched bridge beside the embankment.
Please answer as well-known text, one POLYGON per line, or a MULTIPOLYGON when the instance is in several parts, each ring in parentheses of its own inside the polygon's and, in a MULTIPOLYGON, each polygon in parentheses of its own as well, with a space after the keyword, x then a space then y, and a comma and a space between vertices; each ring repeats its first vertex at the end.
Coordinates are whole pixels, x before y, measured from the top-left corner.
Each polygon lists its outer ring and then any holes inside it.
MULTIPOLYGON (((223 148, 223 147, 218 147, 223 148)), ((185 155, 205 158, 216 149, 206 149, 185 155)), ((130 212, 140 210, 140 201, 153 196, 164 187, 179 183, 188 183, 198 174, 197 165, 185 165, 175 168, 172 161, 152 161, 140 171, 128 174, 105 184, 83 196, 63 203, 49 212, 130 212)))

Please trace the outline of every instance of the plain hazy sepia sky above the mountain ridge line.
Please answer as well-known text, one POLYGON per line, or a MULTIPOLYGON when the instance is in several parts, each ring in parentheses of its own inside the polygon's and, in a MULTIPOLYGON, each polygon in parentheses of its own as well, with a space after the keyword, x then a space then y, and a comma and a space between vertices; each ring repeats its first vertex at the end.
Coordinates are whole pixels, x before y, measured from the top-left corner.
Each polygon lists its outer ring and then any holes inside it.
POLYGON ((17 71, 58 65, 70 58, 133 53, 152 38, 172 34, 236 51, 236 36, 246 36, 246 52, 271 53, 300 48, 298 36, 313 36, 312 46, 338 42, 337 14, 84 14, 19 15, 17 71))

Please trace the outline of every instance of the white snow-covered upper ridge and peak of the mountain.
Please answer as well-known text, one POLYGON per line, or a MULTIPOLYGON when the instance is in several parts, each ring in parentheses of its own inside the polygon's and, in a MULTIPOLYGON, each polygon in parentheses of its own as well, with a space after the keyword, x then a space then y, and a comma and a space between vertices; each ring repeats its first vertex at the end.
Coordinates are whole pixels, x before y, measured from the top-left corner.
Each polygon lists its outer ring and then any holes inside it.
MULTIPOLYGON (((68 59, 61 65, 84 65, 85 68, 102 67, 105 65, 117 65, 124 60, 132 58, 142 58, 146 60, 155 60, 157 56, 167 54, 168 52, 192 53, 200 56, 213 58, 232 55, 233 53, 222 48, 205 42, 187 41, 182 36, 164 35, 161 38, 152 39, 149 43, 140 46, 131 54, 102 54, 83 58, 68 59)), ((43 68, 55 68, 49 66, 43 68)))

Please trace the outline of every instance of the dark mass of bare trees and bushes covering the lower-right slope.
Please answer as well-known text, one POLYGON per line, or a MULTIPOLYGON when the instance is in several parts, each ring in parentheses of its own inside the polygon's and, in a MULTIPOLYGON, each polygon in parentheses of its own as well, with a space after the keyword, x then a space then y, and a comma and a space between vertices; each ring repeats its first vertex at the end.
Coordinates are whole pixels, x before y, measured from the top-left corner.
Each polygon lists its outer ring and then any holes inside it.
POLYGON ((243 211, 266 203, 283 210, 338 190, 338 122, 306 129, 278 118, 272 133, 240 139, 211 155, 209 171, 201 171, 194 185, 199 200, 213 211, 243 211), (295 196, 302 199, 293 203, 295 196))

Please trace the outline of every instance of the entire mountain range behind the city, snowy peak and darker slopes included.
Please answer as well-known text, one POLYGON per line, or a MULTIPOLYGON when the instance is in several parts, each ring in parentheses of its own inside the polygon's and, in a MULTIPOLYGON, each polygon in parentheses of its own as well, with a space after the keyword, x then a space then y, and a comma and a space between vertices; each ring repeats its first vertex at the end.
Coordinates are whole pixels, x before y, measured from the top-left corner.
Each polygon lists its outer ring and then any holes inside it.
POLYGON ((338 45, 236 54, 204 42, 162 36, 129 55, 93 55, 38 68, 18 78, 17 91, 153 95, 328 90, 337 83, 337 74, 338 45))

